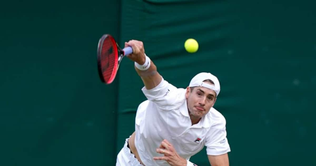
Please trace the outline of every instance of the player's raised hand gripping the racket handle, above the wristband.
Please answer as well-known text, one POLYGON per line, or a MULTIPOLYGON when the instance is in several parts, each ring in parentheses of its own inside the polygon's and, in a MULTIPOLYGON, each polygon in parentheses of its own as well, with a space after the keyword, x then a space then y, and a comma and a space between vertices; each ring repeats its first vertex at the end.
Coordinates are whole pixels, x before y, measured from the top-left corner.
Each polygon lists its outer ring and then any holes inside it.
POLYGON ((130 40, 125 42, 125 47, 127 46, 131 46, 133 48, 133 53, 127 57, 132 61, 137 62, 139 65, 143 65, 146 60, 143 42, 138 40, 130 40))

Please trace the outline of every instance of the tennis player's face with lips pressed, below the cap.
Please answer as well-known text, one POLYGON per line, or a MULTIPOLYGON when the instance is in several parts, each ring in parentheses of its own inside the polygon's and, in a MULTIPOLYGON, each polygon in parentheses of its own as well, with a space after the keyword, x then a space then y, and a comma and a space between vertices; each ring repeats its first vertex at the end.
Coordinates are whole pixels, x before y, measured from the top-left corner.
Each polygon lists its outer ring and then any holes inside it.
POLYGON ((185 97, 187 99, 189 113, 195 118, 202 118, 207 114, 216 101, 216 93, 214 90, 200 86, 194 87, 192 91, 191 88, 188 87, 185 97))

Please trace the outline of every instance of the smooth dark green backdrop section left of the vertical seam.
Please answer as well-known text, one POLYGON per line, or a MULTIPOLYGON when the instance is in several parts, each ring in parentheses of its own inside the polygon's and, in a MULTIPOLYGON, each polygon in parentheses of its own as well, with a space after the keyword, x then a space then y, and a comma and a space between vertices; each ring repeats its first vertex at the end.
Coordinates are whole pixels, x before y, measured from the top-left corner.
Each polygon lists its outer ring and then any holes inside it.
POLYGON ((0 165, 115 164, 117 87, 100 83, 96 48, 119 37, 119 13, 118 1, 1 5, 0 165))

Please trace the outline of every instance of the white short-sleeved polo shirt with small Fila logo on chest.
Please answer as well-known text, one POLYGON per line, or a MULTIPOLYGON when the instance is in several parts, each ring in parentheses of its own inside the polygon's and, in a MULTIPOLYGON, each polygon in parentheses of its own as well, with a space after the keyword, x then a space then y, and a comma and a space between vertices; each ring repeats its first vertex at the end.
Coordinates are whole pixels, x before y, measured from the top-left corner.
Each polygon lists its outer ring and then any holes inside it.
POLYGON ((164 160, 153 160, 153 157, 163 156, 156 152, 163 139, 173 144, 186 160, 204 146, 208 155, 230 151, 226 120, 216 109, 211 108, 197 124, 191 125, 185 89, 178 89, 162 79, 155 88, 147 90, 143 87, 142 90, 148 100, 137 109, 135 146, 144 165, 169 165, 164 160))

